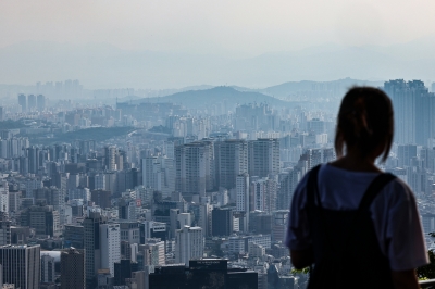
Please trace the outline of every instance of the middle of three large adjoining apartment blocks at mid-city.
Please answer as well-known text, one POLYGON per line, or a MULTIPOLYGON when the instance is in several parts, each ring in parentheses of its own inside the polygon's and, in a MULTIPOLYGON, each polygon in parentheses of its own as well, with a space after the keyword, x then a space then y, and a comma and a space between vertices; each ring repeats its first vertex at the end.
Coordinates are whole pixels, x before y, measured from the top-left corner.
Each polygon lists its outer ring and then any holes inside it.
POLYGON ((237 175, 248 173, 248 142, 232 139, 216 141, 214 147, 217 187, 233 189, 237 175))

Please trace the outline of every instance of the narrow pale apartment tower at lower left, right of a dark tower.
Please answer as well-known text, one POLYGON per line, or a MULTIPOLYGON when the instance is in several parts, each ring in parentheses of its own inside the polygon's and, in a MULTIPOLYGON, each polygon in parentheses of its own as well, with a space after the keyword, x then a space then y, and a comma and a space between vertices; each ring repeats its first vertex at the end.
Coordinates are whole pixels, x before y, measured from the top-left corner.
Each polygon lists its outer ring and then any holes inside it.
POLYGON ((101 268, 109 268, 112 277, 115 274, 114 263, 121 261, 120 224, 100 225, 101 268))

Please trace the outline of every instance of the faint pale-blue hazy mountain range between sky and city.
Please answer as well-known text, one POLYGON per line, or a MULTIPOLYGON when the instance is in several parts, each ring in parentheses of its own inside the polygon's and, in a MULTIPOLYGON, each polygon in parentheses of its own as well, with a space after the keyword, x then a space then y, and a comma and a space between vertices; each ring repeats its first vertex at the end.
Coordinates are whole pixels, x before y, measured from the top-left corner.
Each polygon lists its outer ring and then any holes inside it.
MULTIPOLYGON (((0 48, 0 83, 33 85, 79 79, 91 89, 237 85, 241 89, 249 87, 282 96, 279 86, 268 91, 260 88, 288 80, 331 81, 346 77, 378 81, 391 78, 434 80, 433 51, 435 37, 388 47, 324 45, 245 59, 179 51, 128 51, 105 43, 27 41, 0 48)), ((310 84, 286 84, 304 85, 310 84)))

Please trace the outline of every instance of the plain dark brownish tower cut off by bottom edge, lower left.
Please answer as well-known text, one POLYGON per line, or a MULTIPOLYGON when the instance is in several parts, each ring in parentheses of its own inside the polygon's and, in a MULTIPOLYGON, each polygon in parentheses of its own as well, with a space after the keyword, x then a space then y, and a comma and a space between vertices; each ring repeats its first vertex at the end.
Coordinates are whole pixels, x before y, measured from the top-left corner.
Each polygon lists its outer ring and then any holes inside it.
POLYGON ((61 252, 61 289, 86 288, 85 251, 69 248, 61 252))

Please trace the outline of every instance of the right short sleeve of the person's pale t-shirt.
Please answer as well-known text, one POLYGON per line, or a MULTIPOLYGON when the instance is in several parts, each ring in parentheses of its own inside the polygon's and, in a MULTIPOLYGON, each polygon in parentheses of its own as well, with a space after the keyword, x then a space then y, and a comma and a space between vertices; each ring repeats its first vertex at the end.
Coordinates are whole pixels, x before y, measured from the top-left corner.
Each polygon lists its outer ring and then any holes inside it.
POLYGON ((415 197, 401 180, 389 184, 384 200, 373 203, 378 213, 374 224, 381 250, 393 271, 407 271, 428 264, 415 197), (383 212, 381 212, 383 210, 383 212))

